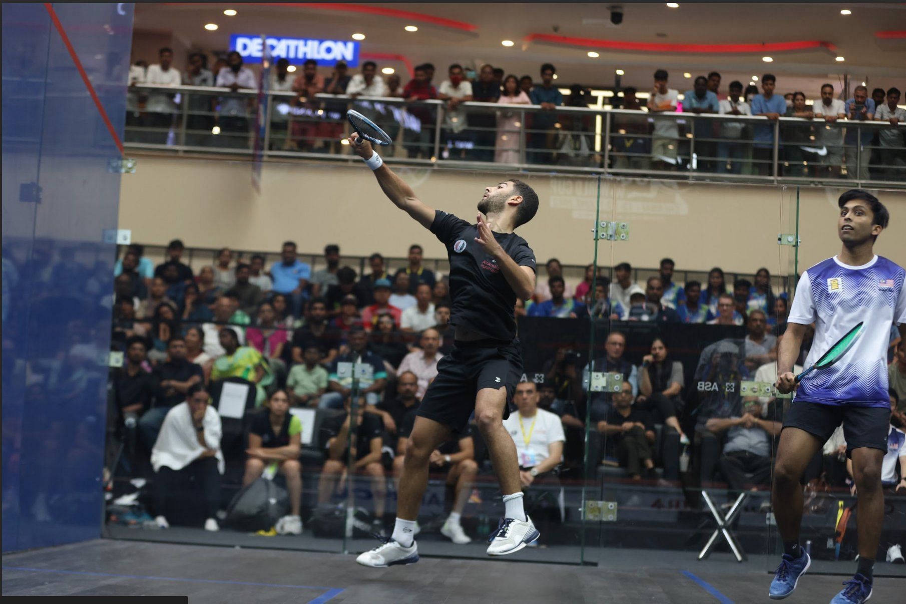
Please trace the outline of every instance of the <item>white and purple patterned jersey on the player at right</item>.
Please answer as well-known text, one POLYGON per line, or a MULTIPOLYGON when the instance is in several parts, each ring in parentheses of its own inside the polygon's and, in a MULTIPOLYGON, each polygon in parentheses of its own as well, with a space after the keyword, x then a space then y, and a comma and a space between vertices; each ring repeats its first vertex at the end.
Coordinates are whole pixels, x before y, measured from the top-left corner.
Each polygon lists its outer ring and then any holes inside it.
POLYGON ((796 401, 822 404, 890 406, 887 347, 892 323, 906 323, 906 271, 875 256, 861 267, 836 257, 809 268, 796 286, 789 323, 814 323, 814 343, 805 367, 814 365, 860 321, 863 333, 843 358, 802 379, 796 401))

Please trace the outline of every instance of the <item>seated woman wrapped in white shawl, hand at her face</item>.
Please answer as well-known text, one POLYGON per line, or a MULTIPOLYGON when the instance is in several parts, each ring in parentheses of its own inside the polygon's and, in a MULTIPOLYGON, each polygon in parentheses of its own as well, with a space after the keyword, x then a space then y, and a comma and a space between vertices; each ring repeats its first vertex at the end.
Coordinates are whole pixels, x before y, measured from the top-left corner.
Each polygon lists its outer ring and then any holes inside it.
POLYGON ((180 483, 194 478, 200 484, 207 513, 205 531, 219 531, 217 508, 220 505, 220 474, 224 473, 224 454, 220 451, 220 416, 208 404, 210 395, 203 385, 192 386, 185 403, 169 410, 151 450, 154 480, 155 523, 169 528, 168 500, 178 492, 180 483))

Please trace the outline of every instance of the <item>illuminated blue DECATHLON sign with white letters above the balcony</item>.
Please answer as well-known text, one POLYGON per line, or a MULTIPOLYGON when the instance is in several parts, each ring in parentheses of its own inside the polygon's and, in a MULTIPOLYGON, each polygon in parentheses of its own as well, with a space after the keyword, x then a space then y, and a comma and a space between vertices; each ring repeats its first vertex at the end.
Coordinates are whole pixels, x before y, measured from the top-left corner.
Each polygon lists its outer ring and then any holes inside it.
MULTIPOLYGON (((302 63, 314 59, 319 65, 331 66, 345 61, 350 67, 359 65, 359 43, 345 40, 311 40, 308 38, 267 38, 267 46, 275 59, 302 63)), ((264 43, 260 35, 233 34, 229 49, 242 55, 246 63, 261 63, 264 43)))

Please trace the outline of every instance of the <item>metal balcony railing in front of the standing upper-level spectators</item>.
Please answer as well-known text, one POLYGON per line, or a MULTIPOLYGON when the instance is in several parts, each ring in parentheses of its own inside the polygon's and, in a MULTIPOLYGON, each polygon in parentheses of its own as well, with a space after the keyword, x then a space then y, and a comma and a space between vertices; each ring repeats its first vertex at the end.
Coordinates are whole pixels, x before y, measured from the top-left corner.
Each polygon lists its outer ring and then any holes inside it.
POLYGON ((133 149, 355 161, 342 139, 354 108, 394 139, 390 162, 593 172, 683 180, 906 186, 906 124, 269 93, 130 88, 133 149), (260 116, 260 118, 259 118, 260 116), (255 132, 255 124, 261 127, 255 132), (256 136, 256 133, 260 133, 256 136))

